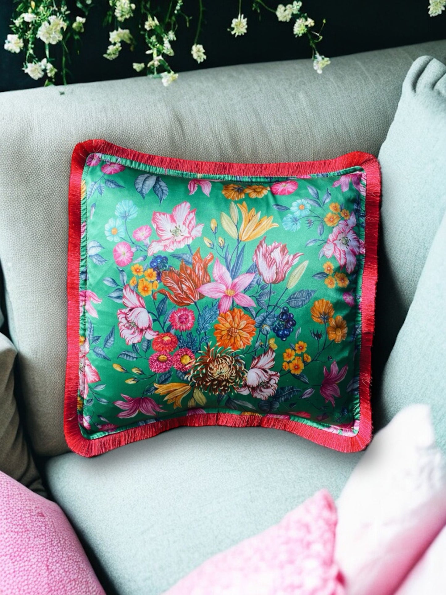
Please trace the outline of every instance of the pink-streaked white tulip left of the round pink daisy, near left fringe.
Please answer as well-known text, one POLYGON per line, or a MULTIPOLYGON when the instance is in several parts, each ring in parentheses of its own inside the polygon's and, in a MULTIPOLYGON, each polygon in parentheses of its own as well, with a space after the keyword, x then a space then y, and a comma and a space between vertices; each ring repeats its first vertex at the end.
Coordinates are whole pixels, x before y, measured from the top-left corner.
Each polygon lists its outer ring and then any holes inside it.
POLYGON ((117 312, 120 335, 127 345, 139 343, 143 337, 154 339, 158 331, 153 330, 153 320, 143 298, 131 289, 130 285, 124 286, 123 304, 126 306, 117 312))

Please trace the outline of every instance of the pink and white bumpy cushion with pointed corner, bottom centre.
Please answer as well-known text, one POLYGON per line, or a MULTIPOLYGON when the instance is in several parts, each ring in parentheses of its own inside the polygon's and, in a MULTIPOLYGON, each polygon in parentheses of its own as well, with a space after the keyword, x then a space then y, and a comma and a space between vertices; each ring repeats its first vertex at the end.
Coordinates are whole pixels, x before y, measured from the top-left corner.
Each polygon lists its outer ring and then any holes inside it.
POLYGON ((165 595, 344 595, 337 513, 321 490, 255 537, 206 560, 165 595))

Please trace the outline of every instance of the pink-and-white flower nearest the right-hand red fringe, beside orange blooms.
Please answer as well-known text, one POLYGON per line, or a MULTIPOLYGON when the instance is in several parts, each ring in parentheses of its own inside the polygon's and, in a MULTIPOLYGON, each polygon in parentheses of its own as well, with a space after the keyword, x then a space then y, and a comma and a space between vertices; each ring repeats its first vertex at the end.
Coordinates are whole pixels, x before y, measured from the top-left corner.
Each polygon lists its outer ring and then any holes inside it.
POLYGON ((347 273, 352 273, 356 267, 356 256, 365 253, 363 240, 354 232, 356 216, 350 215, 347 221, 334 228, 322 250, 327 258, 334 256, 341 268, 346 267, 347 273))

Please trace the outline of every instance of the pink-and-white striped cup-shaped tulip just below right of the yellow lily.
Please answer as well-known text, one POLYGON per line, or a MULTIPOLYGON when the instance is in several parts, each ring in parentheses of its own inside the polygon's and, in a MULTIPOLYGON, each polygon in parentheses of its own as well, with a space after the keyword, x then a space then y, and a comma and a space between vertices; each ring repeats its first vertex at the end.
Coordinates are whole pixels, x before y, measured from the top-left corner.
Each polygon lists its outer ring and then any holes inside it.
POLYGON ((265 239, 266 236, 257 245, 253 261, 265 283, 281 283, 303 252, 291 255, 286 244, 273 242, 271 246, 266 246, 265 239))

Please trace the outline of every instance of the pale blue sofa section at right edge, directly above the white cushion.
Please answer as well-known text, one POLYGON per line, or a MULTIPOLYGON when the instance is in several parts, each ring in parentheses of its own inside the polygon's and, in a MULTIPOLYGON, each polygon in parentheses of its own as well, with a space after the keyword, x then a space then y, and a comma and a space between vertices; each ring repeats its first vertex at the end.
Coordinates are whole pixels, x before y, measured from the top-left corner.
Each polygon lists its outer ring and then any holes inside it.
POLYGON ((384 368, 377 402, 379 424, 409 403, 428 403, 438 445, 446 452, 446 213, 419 278, 406 320, 384 368), (426 362, 419 365, 418 358, 426 362))

